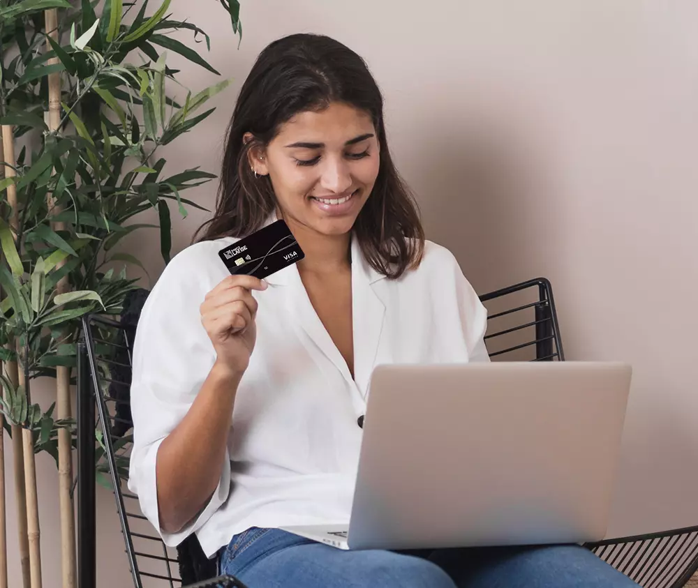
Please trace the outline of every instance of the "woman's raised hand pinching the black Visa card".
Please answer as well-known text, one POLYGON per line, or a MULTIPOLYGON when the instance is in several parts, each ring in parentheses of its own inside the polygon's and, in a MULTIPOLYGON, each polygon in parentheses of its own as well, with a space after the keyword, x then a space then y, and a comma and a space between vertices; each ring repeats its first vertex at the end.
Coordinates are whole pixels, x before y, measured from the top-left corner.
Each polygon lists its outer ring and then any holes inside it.
POLYGON ((253 276, 228 276, 206 294, 201 322, 216 349, 216 363, 242 375, 255 348, 257 301, 252 290, 267 289, 253 276))

